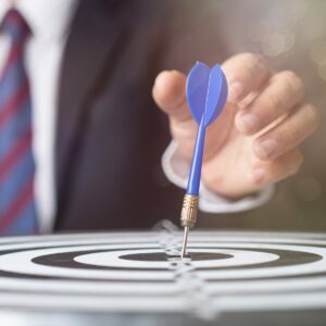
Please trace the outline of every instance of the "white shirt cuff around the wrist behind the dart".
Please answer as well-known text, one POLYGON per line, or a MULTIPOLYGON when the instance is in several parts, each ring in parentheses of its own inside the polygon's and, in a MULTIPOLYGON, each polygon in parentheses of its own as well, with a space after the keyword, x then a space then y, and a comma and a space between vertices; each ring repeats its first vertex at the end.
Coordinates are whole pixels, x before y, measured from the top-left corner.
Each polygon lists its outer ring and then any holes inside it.
MULTIPOLYGON (((178 152, 177 142, 172 140, 162 156, 162 167, 167 179, 186 189, 190 165, 189 162, 178 152)), ((210 191, 200 184, 199 209, 206 213, 235 213, 252 210, 267 202, 273 193, 274 187, 268 186, 259 193, 248 196, 237 201, 228 200, 213 191, 210 191)))

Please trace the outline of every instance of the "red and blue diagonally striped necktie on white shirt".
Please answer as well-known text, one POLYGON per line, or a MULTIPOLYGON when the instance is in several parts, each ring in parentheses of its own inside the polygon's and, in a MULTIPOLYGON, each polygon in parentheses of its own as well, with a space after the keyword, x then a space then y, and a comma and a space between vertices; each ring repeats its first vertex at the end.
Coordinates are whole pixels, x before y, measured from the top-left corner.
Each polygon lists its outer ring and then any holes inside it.
POLYGON ((0 78, 0 235, 26 235, 37 229, 32 101, 23 55, 30 29, 12 9, 1 33, 11 48, 0 78))

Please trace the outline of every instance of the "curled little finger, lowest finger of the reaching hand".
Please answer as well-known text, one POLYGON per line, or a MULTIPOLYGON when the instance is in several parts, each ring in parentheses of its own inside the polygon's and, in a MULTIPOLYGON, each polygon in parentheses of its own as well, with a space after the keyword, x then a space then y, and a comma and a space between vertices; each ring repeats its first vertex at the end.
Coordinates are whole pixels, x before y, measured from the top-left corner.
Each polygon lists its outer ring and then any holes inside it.
POLYGON ((303 156, 301 152, 298 149, 292 149, 272 162, 260 161, 256 163, 249 172, 249 179, 254 187, 261 188, 294 175, 302 162, 303 156))

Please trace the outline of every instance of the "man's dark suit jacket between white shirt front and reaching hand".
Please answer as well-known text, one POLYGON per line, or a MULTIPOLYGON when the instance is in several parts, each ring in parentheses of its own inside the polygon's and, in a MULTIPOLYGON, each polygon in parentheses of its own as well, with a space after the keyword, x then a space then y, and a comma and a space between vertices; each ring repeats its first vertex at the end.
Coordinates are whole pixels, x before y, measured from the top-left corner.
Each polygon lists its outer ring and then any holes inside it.
POLYGON ((151 88, 163 68, 210 58, 191 39, 205 41, 201 27, 185 28, 191 1, 174 2, 79 2, 59 86, 57 230, 178 223, 183 191, 161 168, 170 133, 151 88))

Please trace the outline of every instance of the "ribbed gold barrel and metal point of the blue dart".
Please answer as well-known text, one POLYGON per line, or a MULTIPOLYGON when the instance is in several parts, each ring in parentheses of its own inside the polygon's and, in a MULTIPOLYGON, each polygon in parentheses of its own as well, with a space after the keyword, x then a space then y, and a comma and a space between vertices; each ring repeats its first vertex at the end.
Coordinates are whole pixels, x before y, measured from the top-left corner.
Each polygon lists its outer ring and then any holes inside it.
POLYGON ((186 255, 189 228, 192 228, 197 221, 198 204, 199 204, 198 196, 185 195, 183 210, 181 210, 181 216, 180 216, 181 226, 185 228, 181 258, 185 258, 185 255, 186 255))

